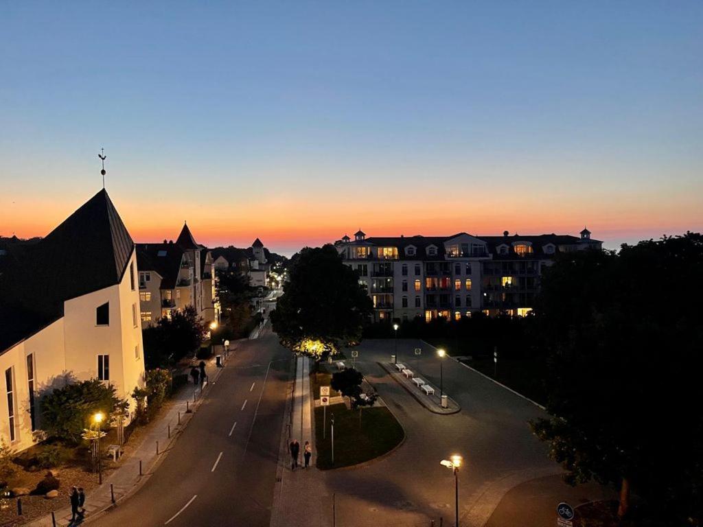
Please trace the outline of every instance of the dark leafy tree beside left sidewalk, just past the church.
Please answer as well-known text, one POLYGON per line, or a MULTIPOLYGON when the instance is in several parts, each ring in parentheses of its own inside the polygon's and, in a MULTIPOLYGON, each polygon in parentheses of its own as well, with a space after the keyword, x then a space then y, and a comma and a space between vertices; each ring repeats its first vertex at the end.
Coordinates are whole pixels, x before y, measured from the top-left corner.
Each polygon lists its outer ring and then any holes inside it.
POLYGON ((162 317, 142 333, 146 367, 165 367, 195 353, 205 338, 205 324, 193 306, 174 310, 171 318, 162 317))

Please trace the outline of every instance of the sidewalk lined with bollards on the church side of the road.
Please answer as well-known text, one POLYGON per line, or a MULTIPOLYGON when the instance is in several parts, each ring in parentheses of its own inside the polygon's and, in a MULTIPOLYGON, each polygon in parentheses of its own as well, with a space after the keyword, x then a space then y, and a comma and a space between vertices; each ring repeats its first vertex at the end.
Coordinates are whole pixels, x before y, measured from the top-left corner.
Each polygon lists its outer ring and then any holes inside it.
MULTIPOLYGON (((112 491, 115 494, 115 502, 120 502, 120 500, 138 490, 143 483, 146 483, 171 448, 172 443, 176 441, 176 438, 181 434, 188 422, 190 422, 191 417, 193 417, 194 412, 200 406, 202 393, 204 391, 207 392, 207 385, 215 382, 222 370, 215 365, 215 360, 212 358, 208 360, 205 371, 207 372, 207 379, 209 379, 208 382, 205 382, 202 388, 192 384, 183 386, 172 397, 170 408, 162 412, 157 419, 148 425, 150 428, 148 434, 143 436, 141 443, 129 458, 125 459, 115 471, 112 471, 110 476, 103 479, 101 486, 86 493, 86 517, 84 523, 91 521, 99 513, 112 506, 112 491), (186 408, 189 408, 191 412, 186 413, 186 408), (179 412, 181 414, 181 424, 179 424, 179 412), (139 474, 140 462, 143 475, 139 474), (112 491, 110 486, 112 486, 112 491)), ((65 501, 67 507, 54 513, 57 526, 71 525, 71 509, 68 506, 66 494, 70 485, 70 481, 64 481, 62 485, 63 490, 58 499, 65 501)), ((53 527, 51 514, 26 525, 30 527, 53 527)))

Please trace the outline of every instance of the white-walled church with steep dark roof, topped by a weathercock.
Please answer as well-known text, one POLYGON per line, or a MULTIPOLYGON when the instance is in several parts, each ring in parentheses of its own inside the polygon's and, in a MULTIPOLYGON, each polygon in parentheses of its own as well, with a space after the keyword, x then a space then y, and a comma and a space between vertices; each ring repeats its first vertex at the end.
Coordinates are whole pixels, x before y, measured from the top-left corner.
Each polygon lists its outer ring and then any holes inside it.
MULTIPOLYGON (((0 256, 0 438, 44 438, 40 396, 100 379, 134 408, 144 386, 134 242, 103 189, 63 223, 0 256)), ((126 423, 124 423, 126 424, 126 423)))

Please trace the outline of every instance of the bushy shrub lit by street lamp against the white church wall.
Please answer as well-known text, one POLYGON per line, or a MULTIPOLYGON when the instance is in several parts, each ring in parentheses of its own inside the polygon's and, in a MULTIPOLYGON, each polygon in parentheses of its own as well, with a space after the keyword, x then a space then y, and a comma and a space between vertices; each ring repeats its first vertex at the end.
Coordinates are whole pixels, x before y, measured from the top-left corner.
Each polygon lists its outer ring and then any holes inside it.
POLYGON ((41 396, 41 422, 50 438, 79 443, 81 434, 90 428, 96 412, 105 414, 105 424, 117 412, 124 412, 127 401, 117 397, 115 386, 98 379, 67 384, 41 396))

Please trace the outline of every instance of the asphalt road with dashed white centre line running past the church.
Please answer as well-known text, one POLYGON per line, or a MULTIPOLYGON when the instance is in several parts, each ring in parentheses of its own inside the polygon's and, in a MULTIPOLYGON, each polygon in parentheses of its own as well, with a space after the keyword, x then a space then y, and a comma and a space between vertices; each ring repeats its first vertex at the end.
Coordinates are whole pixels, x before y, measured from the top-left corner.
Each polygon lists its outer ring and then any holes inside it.
POLYGON ((160 467, 101 527, 269 526, 290 351, 240 344, 160 467))

